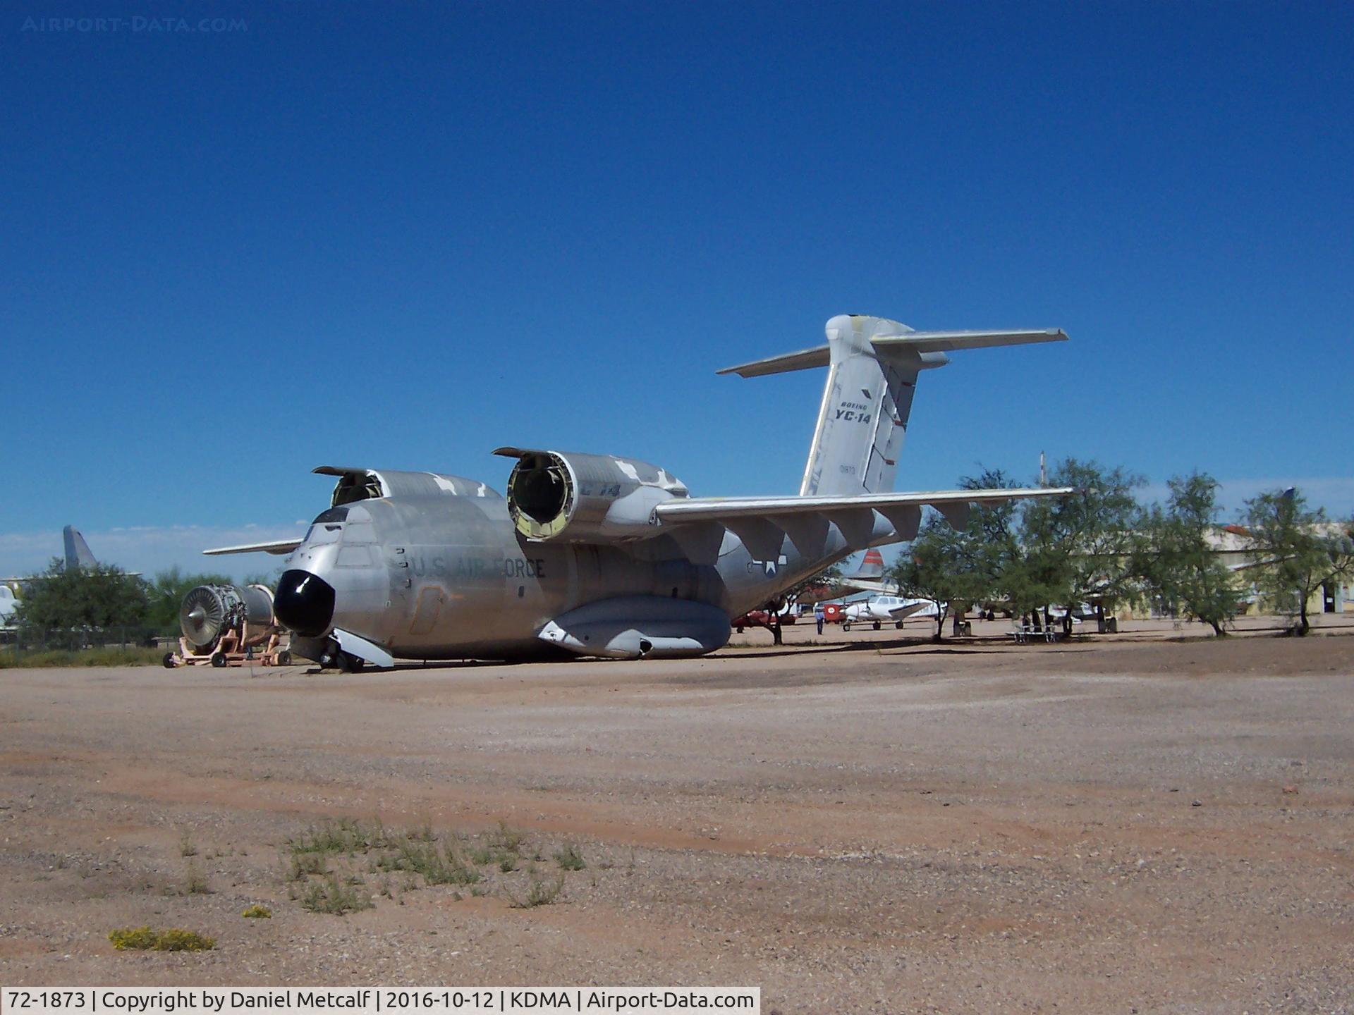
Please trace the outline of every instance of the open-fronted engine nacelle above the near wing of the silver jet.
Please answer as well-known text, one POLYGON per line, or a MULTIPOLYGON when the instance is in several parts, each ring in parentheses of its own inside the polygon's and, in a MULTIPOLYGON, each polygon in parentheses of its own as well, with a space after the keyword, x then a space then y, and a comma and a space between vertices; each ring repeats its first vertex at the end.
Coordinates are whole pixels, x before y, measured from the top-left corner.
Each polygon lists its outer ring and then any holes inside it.
POLYGON ((611 455, 498 448, 516 457, 508 513, 531 540, 612 543, 658 535, 654 508, 686 497, 681 480, 647 461, 611 455))

